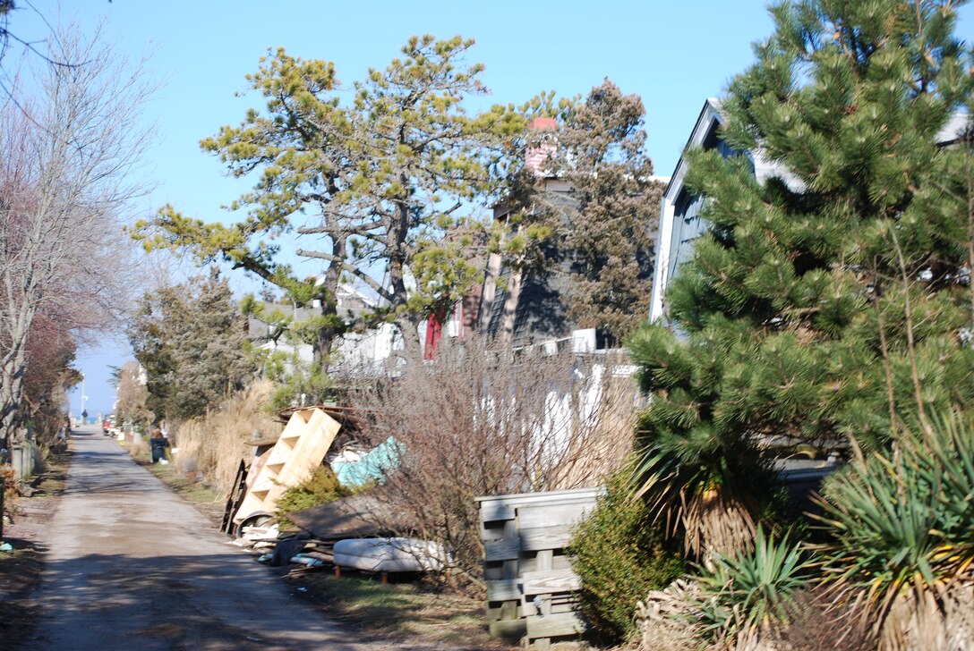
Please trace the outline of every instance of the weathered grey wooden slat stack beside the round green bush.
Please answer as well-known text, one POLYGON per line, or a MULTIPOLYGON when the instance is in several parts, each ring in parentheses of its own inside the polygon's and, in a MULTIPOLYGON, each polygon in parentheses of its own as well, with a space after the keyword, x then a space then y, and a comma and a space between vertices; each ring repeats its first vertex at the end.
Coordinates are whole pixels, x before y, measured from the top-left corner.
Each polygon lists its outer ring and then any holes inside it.
POLYGON ((579 577, 565 556, 576 523, 602 488, 478 497, 487 619, 495 637, 526 638, 543 651, 577 638, 579 577))

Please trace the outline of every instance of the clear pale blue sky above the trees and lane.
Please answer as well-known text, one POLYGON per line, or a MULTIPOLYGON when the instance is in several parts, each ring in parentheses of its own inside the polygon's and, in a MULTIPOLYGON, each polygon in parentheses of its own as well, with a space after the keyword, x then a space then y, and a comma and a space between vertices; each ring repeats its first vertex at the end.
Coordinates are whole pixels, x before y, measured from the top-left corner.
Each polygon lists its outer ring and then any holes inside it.
MULTIPOLYGON (((201 138, 236 125, 248 107, 244 75, 268 48, 304 58, 332 60, 351 83, 371 67, 385 67, 412 34, 456 34, 476 39, 470 59, 486 66, 489 102, 520 103, 542 90, 584 93, 609 77, 646 105, 647 149, 656 174, 668 176, 686 144, 703 100, 719 96, 731 77, 753 60, 751 44, 768 37, 764 0, 658 0, 598 2, 495 0, 452 2, 252 2, 237 0, 17 0, 10 29, 25 40, 43 39, 52 24, 74 20, 86 32, 103 22, 102 37, 118 54, 150 55, 147 67, 160 90, 146 114, 156 124, 146 153, 157 184, 138 209, 154 212, 169 202, 182 212, 219 219, 220 206, 249 182, 223 175, 199 149, 201 138)), ((958 33, 974 40, 974 8, 961 9, 958 33)), ((8 66, 19 56, 12 47, 8 66)), ((89 412, 108 411, 114 390, 107 365, 130 353, 122 344, 84 351, 89 412)), ((80 393, 72 396, 77 412, 80 393)))

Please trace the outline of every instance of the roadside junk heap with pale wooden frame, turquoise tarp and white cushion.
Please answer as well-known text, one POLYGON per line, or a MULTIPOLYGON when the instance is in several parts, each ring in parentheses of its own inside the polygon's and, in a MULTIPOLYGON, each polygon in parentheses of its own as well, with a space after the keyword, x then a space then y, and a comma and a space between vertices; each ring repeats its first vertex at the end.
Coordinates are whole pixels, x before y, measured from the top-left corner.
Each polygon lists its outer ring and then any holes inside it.
POLYGON ((300 532, 281 531, 279 524, 272 524, 283 491, 314 473, 340 429, 356 428, 353 416, 338 408, 311 407, 295 410, 276 439, 255 440, 254 459, 249 467, 241 462, 221 530, 237 533, 234 544, 257 561, 298 565, 289 574, 321 567, 333 567, 340 574, 348 567, 385 577, 389 572, 443 571, 450 566, 453 560, 441 545, 394 535, 414 527, 384 499, 382 479, 398 465, 401 452, 393 437, 360 453, 352 451, 354 441, 346 441, 331 459, 343 486, 376 486, 288 513, 300 532))

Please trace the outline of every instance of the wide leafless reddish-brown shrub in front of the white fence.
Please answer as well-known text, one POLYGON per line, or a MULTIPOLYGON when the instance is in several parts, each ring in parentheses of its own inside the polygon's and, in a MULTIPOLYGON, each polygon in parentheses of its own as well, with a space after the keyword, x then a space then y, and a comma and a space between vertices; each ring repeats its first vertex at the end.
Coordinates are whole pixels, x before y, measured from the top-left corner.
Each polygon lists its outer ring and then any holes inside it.
MULTIPOLYGON (((631 452, 635 382, 624 360, 491 349, 468 338, 353 396, 366 438, 393 436, 399 465, 375 491, 390 529, 452 549, 469 585, 482 548, 474 497, 598 486, 631 452)), ((362 386, 360 379, 349 382, 362 386)), ((380 522, 380 524, 387 524, 380 522)))

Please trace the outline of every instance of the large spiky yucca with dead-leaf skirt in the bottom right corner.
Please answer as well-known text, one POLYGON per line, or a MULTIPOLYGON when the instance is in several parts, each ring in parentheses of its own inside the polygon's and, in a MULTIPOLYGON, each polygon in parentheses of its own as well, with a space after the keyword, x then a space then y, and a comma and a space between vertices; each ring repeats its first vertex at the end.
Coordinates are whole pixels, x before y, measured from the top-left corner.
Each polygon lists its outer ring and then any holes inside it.
POLYGON ((884 649, 974 645, 949 607, 974 589, 974 431, 959 416, 926 429, 858 455, 818 499, 831 534, 823 583, 872 623, 884 649))

